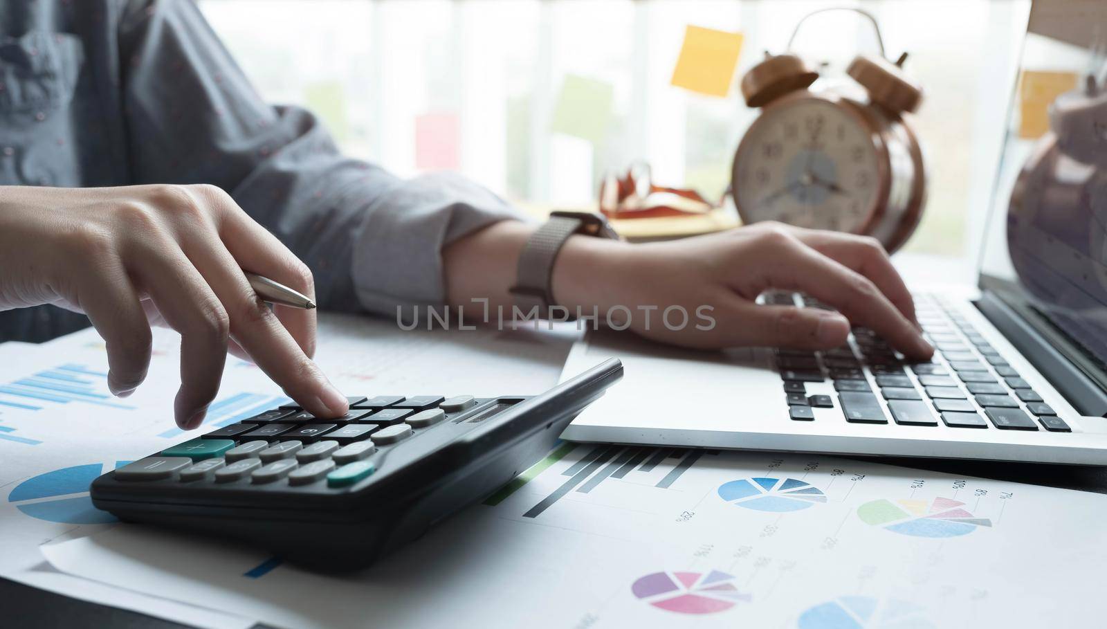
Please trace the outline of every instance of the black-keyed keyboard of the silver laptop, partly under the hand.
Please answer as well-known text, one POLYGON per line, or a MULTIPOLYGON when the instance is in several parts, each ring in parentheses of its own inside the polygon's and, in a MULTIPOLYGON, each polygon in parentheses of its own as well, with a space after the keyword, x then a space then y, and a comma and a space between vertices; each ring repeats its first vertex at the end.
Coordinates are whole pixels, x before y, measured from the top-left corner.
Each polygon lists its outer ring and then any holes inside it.
MULTIPOLYGON (((793 292, 765 293, 765 303, 832 308, 793 292)), ((931 296, 915 296, 915 314, 934 346, 931 362, 904 360, 867 328, 827 351, 776 350, 788 416, 815 421, 817 408, 837 408, 847 422, 951 429, 1072 432, 972 322, 931 296), (814 382, 835 396, 808 394, 814 382)))

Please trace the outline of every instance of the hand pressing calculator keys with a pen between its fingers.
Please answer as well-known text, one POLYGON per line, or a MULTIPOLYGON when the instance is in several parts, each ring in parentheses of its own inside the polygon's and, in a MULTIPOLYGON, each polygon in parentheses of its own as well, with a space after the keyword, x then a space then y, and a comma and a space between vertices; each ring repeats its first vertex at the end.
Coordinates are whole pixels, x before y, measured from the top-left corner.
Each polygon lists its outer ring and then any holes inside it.
POLYGON ((149 321, 182 334, 177 424, 204 420, 228 342, 320 416, 346 412, 314 353, 313 310, 260 301, 242 269, 314 297, 311 272, 215 186, 0 186, 0 310, 84 312, 107 344, 108 386, 146 377, 149 321))

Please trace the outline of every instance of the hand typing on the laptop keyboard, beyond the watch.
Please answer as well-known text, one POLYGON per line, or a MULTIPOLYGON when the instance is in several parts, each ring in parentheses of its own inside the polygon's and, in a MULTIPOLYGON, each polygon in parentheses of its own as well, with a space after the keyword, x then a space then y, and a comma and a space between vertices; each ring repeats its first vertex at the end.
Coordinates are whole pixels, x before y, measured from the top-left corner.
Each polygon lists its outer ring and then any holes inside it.
MULTIPOLYGON (((590 314, 599 306, 602 319, 611 308, 628 308, 632 330, 680 346, 829 349, 846 341, 852 323, 871 328, 911 359, 933 353, 888 254, 863 236, 775 223, 641 245, 575 236, 558 256, 552 289, 573 313, 580 307, 590 314), (806 292, 840 313, 754 302, 773 288, 806 292), (643 306, 651 308, 649 329, 643 306), (670 306, 689 314, 680 330, 662 321, 670 306), (696 328, 706 327, 697 318, 703 306, 711 310, 701 312, 715 320, 710 330, 696 328)), ((681 318, 674 312, 670 320, 681 318)))

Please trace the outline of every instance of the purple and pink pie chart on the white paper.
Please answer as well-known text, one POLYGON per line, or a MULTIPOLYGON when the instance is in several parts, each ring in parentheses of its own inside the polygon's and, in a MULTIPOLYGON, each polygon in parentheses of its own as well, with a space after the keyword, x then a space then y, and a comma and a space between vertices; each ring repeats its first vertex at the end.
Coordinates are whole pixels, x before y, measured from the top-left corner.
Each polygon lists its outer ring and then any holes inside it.
POLYGON ((734 585, 734 576, 720 570, 710 573, 653 573, 630 586, 639 600, 676 613, 715 613, 739 600, 749 600, 734 585))

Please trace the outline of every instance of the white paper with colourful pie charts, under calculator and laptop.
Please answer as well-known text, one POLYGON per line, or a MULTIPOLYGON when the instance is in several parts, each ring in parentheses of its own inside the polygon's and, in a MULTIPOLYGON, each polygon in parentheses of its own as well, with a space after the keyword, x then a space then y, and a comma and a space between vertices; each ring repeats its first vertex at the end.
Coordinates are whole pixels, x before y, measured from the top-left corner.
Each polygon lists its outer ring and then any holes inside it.
POLYGON ((1105 518, 1096 494, 563 443, 363 574, 130 525, 44 554, 72 575, 287 628, 1089 627, 1105 518))

